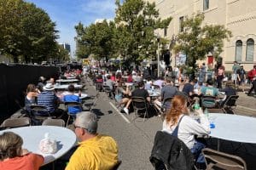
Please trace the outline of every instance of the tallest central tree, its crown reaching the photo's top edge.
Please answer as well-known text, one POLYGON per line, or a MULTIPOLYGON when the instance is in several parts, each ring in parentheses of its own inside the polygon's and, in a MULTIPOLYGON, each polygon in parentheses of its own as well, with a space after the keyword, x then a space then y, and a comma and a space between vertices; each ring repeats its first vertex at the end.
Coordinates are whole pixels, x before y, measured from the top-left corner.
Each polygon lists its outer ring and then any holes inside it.
POLYGON ((125 0, 122 4, 116 0, 116 5, 114 46, 119 54, 125 54, 137 63, 155 55, 154 30, 166 28, 172 18, 160 20, 155 3, 145 3, 143 0, 125 0))

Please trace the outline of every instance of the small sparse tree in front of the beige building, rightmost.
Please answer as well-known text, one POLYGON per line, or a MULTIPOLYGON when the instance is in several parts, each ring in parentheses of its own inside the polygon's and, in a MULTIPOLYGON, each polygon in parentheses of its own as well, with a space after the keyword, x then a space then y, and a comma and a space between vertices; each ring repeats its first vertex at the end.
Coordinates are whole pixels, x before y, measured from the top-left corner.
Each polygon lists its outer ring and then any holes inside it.
POLYGON ((204 20, 203 14, 195 14, 186 18, 183 22, 183 32, 177 35, 174 51, 187 55, 187 64, 195 73, 197 59, 205 59, 207 54, 212 53, 215 59, 223 52, 224 39, 229 40, 231 31, 224 26, 210 25, 201 26, 204 20))

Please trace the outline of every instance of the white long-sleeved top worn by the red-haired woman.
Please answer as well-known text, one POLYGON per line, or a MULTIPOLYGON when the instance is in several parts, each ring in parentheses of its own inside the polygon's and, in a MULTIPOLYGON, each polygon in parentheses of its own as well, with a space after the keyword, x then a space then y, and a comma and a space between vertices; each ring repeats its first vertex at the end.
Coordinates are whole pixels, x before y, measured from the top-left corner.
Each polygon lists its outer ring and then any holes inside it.
MULTIPOLYGON (((200 122, 201 123, 196 122, 190 116, 183 116, 182 121, 179 123, 179 127, 177 130, 177 138, 181 139, 183 143, 188 146, 189 149, 191 149, 195 144, 195 136, 194 136, 195 134, 205 135, 210 132, 210 127, 209 127, 209 122, 207 117, 203 115, 200 116, 200 122)), ((166 131, 167 133, 172 134, 172 132, 176 127, 177 125, 170 127, 170 125, 167 124, 166 120, 163 122, 163 131, 166 131)))

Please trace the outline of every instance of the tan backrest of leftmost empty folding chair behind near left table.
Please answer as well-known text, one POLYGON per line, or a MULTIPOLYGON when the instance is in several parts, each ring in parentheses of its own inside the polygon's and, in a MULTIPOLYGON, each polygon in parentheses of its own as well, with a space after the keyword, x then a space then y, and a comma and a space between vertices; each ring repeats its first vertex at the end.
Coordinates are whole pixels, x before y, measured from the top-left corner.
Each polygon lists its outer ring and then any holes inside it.
POLYGON ((3 128, 26 127, 31 125, 29 117, 9 118, 3 121, 3 128))

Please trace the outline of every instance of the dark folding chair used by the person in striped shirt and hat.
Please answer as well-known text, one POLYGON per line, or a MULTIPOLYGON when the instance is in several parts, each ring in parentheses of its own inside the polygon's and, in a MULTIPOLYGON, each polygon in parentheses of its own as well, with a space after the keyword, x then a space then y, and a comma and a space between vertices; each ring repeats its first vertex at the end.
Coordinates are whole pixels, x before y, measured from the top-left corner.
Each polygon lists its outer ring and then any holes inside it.
POLYGON ((42 122, 50 117, 49 111, 44 105, 31 105, 32 125, 41 125, 42 122))

